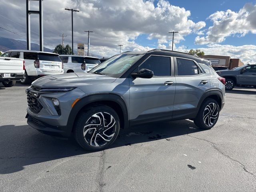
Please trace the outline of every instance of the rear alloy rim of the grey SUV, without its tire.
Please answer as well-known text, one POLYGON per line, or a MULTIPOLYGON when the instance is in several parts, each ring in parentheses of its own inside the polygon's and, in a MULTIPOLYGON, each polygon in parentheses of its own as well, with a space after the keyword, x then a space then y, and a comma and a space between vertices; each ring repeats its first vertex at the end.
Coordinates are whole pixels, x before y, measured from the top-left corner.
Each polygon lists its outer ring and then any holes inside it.
POLYGON ((205 109, 204 109, 204 113, 203 113, 203 120, 204 120, 204 124, 206 124, 206 126, 212 126, 214 123, 216 123, 217 118, 218 118, 218 107, 215 103, 209 103, 205 109))

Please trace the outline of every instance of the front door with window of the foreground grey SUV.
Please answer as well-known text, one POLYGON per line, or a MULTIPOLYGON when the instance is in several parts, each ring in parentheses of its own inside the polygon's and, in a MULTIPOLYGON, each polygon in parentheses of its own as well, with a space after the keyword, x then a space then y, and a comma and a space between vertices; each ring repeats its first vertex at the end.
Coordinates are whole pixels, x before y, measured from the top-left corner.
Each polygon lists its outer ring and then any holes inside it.
POLYGON ((161 120, 172 117, 175 77, 173 58, 151 55, 138 68, 154 72, 150 79, 130 78, 130 120, 161 120))

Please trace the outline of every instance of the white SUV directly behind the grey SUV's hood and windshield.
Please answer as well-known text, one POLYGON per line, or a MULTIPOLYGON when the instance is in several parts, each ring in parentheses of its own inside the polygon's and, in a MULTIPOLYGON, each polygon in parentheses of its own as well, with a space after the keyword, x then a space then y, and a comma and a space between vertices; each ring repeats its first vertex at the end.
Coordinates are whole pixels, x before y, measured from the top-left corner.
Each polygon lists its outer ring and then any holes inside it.
POLYGON ((100 59, 79 55, 60 55, 64 64, 64 73, 88 72, 100 64, 100 59))

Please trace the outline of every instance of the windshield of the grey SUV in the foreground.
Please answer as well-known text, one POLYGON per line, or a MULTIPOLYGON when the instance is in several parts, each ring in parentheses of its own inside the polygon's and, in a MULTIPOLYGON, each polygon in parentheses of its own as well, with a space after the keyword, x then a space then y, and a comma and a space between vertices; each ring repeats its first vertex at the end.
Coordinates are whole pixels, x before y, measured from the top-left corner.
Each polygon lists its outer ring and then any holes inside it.
POLYGON ((103 74, 111 77, 119 77, 130 66, 138 61, 144 54, 120 54, 113 56, 106 60, 104 63, 99 64, 95 68, 89 71, 89 73, 103 74))

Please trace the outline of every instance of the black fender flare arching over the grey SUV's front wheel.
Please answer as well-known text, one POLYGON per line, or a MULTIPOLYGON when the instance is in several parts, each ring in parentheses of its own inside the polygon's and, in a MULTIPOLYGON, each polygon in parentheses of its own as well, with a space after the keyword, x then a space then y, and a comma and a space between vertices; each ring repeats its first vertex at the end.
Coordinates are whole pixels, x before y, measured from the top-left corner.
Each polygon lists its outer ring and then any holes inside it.
POLYGON ((69 132, 72 131, 74 121, 79 113, 79 111, 86 105, 97 102, 97 101, 112 101, 116 102, 120 108, 122 109, 123 115, 124 115, 124 128, 127 128, 129 126, 129 120, 128 120, 128 110, 126 107, 126 104, 124 102, 124 99, 117 95, 117 94, 92 94, 89 96, 84 96, 76 104, 73 106, 73 108, 70 111, 70 114, 68 116, 68 124, 67 127, 69 129, 69 132))

